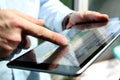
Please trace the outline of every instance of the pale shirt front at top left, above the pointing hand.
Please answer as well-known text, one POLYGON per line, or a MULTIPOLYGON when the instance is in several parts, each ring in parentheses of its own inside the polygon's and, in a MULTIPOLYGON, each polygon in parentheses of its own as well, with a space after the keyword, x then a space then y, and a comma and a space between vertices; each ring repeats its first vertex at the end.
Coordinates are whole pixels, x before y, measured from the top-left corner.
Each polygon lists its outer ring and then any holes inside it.
POLYGON ((14 9, 38 18, 40 0, 0 0, 0 9, 14 9))

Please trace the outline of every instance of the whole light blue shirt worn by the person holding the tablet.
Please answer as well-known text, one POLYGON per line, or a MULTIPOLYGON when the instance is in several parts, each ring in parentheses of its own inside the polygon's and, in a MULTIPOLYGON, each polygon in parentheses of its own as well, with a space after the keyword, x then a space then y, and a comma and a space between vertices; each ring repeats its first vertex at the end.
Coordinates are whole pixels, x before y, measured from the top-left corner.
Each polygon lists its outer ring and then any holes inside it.
MULTIPOLYGON (((45 25, 56 32, 61 32, 63 18, 73 12, 59 0, 0 0, 0 9, 15 9, 38 19, 44 19, 45 25)), ((31 48, 37 46, 37 39, 30 36, 31 48)), ((20 54, 14 58, 22 55, 20 54)), ((13 58, 13 59, 14 59, 13 58)), ((9 61, 0 62, 0 80, 50 80, 49 74, 10 69, 6 66, 9 61)))

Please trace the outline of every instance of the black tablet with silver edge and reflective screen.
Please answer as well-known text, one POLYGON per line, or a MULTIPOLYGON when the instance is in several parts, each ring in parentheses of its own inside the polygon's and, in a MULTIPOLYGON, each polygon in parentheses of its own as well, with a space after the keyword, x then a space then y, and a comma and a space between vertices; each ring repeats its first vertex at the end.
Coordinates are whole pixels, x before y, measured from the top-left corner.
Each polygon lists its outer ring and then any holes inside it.
POLYGON ((120 42, 120 18, 105 22, 80 24, 65 30, 67 46, 44 41, 35 49, 10 61, 9 68, 78 76, 84 72, 104 51, 120 42), (101 26, 101 27, 99 27, 101 26), (92 27, 92 28, 91 28, 92 27))

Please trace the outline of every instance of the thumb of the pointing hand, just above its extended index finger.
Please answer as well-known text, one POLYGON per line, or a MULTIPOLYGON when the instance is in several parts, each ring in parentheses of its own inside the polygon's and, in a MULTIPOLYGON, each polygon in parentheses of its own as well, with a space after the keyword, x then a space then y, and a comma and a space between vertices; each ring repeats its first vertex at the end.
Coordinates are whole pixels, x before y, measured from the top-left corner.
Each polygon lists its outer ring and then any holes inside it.
POLYGON ((35 24, 37 24, 37 25, 44 25, 44 20, 38 20, 38 19, 36 19, 36 18, 34 18, 34 17, 31 17, 31 16, 28 16, 28 15, 26 15, 26 14, 24 14, 24 13, 21 13, 21 12, 19 12, 19 11, 16 11, 16 10, 14 10, 14 12, 18 15, 18 16, 20 16, 20 17, 22 17, 22 18, 24 18, 24 19, 26 19, 26 20, 28 20, 28 21, 30 21, 30 22, 32 22, 32 23, 35 23, 35 24))

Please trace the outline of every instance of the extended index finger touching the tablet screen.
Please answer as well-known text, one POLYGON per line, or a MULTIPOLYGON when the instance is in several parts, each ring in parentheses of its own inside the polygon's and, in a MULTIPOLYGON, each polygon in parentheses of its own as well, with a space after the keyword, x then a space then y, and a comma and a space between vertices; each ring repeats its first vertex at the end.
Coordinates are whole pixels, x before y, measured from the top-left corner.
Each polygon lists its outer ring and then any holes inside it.
POLYGON ((21 27, 23 28, 24 32, 28 35, 32 35, 37 38, 42 38, 44 40, 48 40, 61 46, 67 45, 67 39, 59 33, 50 31, 42 26, 33 24, 26 20, 22 20, 21 23, 21 27))

